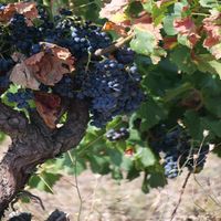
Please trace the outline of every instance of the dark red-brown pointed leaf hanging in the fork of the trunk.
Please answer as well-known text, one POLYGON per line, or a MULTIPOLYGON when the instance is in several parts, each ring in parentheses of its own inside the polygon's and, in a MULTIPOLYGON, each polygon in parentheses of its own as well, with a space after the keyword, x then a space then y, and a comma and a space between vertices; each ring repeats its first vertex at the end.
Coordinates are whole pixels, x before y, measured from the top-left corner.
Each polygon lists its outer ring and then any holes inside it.
POLYGON ((38 92, 34 94, 34 101, 36 110, 45 124, 52 129, 56 128, 62 110, 61 98, 54 94, 38 92))

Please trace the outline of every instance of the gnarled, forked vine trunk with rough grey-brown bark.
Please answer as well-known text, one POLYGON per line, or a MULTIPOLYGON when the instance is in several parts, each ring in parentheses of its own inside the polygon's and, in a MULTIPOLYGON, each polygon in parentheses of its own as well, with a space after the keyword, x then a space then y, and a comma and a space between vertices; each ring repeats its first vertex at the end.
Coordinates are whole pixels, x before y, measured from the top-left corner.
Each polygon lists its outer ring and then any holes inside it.
POLYGON ((12 138, 12 145, 0 162, 0 218, 21 191, 36 166, 75 147, 88 123, 87 106, 72 102, 67 122, 59 129, 45 126, 34 113, 31 123, 22 114, 0 104, 0 130, 12 138))

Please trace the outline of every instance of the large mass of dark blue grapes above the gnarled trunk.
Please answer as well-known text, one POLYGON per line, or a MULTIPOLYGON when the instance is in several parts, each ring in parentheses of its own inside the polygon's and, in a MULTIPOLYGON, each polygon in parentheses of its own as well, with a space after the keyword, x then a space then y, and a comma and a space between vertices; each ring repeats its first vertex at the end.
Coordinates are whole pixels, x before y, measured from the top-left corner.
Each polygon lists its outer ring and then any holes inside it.
MULTIPOLYGON (((75 59, 75 73, 66 73, 55 85, 41 84, 40 91, 64 98, 84 99, 90 106, 92 125, 96 127, 103 127, 116 115, 129 114, 139 107, 144 99, 139 86, 141 77, 133 64, 135 54, 130 49, 124 46, 114 53, 96 56, 96 50, 112 43, 110 36, 101 27, 74 17, 65 9, 61 9, 53 20, 45 8, 39 6, 38 11, 32 25, 20 13, 13 14, 7 28, 0 24, 0 41, 6 39, 3 41, 10 45, 7 51, 11 53, 3 54, 3 57, 11 57, 13 52, 30 57, 42 51, 40 42, 69 49, 75 59)), ((0 87, 9 86, 7 75, 13 65, 11 60, 0 60, 0 87)), ((28 108, 33 91, 21 90, 8 93, 7 97, 19 108, 28 108)))

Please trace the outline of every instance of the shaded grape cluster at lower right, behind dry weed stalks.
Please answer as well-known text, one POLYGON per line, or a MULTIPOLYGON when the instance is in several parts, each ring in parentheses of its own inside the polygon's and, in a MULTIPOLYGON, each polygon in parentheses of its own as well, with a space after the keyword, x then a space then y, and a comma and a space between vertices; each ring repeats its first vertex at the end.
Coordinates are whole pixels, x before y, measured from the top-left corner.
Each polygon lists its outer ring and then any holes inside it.
POLYGON ((162 154, 167 178, 177 177, 183 167, 192 172, 199 172, 203 169, 209 145, 191 148, 191 137, 180 126, 176 126, 168 133, 168 128, 160 125, 154 128, 151 133, 154 139, 149 141, 150 146, 156 152, 162 154))

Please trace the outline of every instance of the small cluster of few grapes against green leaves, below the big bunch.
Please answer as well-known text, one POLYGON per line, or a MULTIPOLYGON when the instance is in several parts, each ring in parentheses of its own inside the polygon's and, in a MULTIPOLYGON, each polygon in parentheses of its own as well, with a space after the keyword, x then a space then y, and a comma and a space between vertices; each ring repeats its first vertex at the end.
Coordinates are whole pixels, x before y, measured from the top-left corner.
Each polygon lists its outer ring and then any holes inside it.
POLYGON ((125 127, 119 129, 109 129, 106 134, 106 137, 109 141, 127 139, 129 137, 129 130, 125 127))

